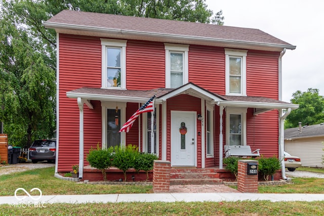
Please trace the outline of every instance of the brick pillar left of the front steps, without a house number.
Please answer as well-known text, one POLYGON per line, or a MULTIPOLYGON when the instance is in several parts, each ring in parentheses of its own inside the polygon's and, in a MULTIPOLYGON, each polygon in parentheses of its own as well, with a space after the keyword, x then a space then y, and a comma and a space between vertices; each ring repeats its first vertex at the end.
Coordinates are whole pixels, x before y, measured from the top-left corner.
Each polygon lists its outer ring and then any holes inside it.
POLYGON ((153 165, 153 192, 166 193, 170 190, 171 162, 154 160, 153 165))

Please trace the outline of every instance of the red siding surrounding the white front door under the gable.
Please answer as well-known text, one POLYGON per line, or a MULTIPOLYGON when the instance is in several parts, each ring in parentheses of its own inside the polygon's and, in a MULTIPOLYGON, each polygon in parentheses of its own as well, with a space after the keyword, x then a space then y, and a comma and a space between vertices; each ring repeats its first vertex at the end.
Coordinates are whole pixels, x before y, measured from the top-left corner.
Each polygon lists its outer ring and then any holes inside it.
MULTIPOLYGON (((200 113, 200 99, 189 95, 179 95, 167 100, 167 160, 171 161, 171 111, 195 111, 200 113)), ((197 132, 201 124, 197 121, 197 132)), ((201 167, 201 136, 197 135, 197 167, 201 167)))

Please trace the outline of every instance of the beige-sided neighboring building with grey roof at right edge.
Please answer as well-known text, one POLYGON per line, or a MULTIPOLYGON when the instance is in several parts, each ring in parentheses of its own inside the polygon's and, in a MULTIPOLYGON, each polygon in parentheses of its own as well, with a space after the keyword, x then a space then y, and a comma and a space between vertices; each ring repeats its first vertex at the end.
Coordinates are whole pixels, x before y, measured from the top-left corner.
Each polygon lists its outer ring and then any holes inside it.
POLYGON ((324 123, 285 129, 285 151, 300 157, 302 166, 324 167, 324 123))

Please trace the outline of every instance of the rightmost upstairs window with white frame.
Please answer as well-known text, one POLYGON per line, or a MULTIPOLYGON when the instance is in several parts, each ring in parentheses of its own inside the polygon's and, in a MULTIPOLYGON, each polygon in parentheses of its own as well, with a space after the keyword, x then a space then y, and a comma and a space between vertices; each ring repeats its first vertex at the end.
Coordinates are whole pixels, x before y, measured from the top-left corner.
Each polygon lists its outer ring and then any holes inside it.
POLYGON ((247 95, 247 52, 225 49, 226 95, 247 95))

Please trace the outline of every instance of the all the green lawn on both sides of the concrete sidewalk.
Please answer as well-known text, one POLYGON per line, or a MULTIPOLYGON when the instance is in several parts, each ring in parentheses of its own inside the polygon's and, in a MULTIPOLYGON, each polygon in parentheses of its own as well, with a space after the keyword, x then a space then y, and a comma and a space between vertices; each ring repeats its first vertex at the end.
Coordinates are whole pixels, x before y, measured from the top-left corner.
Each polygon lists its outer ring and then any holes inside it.
MULTIPOLYGON (((308 170, 307 170, 308 171, 308 170)), ((38 187, 51 194, 150 193, 151 186, 86 185, 55 178, 54 168, 0 176, 0 194, 12 196, 18 187, 38 187)), ((324 193, 324 179, 295 178, 293 184, 260 186, 259 193, 324 193)), ((35 194, 36 195, 36 194, 35 194)), ((0 197, 1 198, 1 197, 0 197)), ((324 201, 313 202, 130 202, 45 204, 43 208, 0 205, 0 215, 323 215, 324 201)))

